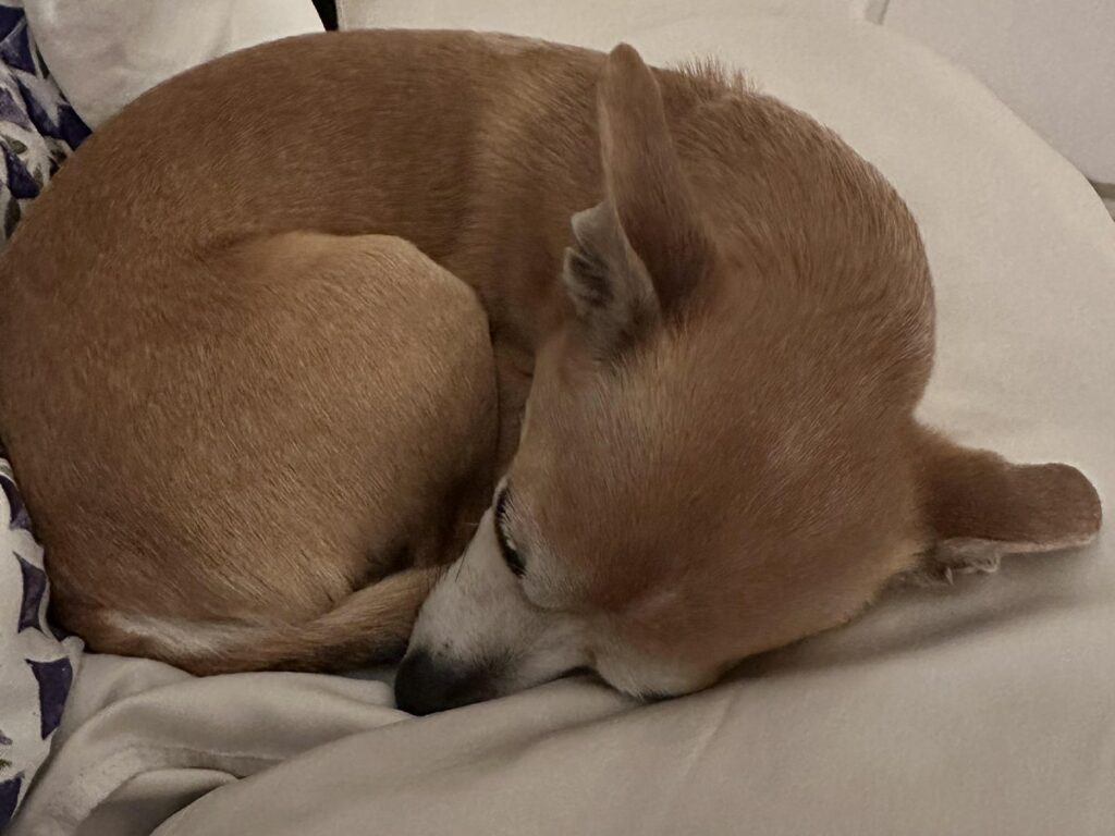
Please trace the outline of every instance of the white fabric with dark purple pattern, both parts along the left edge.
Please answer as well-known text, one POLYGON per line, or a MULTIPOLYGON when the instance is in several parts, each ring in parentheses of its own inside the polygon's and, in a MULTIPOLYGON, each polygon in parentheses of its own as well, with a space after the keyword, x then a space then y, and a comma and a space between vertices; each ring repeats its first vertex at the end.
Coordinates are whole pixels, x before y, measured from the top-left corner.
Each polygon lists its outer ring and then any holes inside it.
MULTIPOLYGON (((0 0, 0 245, 88 133, 43 67, 22 8, 0 0)), ((79 639, 47 623, 42 548, 3 455, 0 447, 0 830, 50 750, 81 652, 79 639)))

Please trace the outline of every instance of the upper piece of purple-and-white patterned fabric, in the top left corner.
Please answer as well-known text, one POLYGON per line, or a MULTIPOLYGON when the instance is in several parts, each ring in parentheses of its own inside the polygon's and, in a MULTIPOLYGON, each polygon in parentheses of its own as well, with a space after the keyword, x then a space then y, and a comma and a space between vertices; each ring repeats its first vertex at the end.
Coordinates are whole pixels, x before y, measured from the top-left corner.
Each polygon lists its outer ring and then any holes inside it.
POLYGON ((0 0, 0 217, 7 241, 89 129, 50 78, 18 2, 0 0))

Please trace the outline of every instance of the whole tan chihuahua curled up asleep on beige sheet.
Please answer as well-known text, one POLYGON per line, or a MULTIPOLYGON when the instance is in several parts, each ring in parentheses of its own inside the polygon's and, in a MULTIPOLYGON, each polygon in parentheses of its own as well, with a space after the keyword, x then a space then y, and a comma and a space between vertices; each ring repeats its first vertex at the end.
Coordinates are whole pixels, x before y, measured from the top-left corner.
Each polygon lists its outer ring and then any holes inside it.
POLYGON ((679 694, 1099 526, 1076 469, 915 421, 932 289, 879 173, 626 46, 214 61, 80 148, 0 294, 58 616, 200 673, 390 659, 426 601, 407 710, 584 667, 679 694))

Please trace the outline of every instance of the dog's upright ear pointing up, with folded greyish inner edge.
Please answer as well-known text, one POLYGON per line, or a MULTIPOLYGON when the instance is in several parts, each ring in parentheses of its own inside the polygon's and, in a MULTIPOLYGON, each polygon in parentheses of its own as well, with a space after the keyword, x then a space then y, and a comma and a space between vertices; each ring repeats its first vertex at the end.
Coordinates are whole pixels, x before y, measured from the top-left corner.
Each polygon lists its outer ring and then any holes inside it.
POLYGON ((662 94, 639 54, 620 45, 597 88, 604 201, 573 217, 565 282, 607 346, 676 315, 710 272, 714 246, 681 172, 662 94))

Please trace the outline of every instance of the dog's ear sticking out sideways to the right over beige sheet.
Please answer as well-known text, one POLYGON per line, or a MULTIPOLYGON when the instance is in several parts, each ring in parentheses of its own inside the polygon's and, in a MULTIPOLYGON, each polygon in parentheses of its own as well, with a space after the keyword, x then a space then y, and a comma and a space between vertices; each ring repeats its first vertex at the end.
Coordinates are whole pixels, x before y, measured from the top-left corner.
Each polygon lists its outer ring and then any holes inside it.
POLYGON ((1075 467, 1015 465, 924 429, 914 455, 930 567, 990 571, 1002 555, 1080 546, 1099 531, 1099 496, 1075 467))

